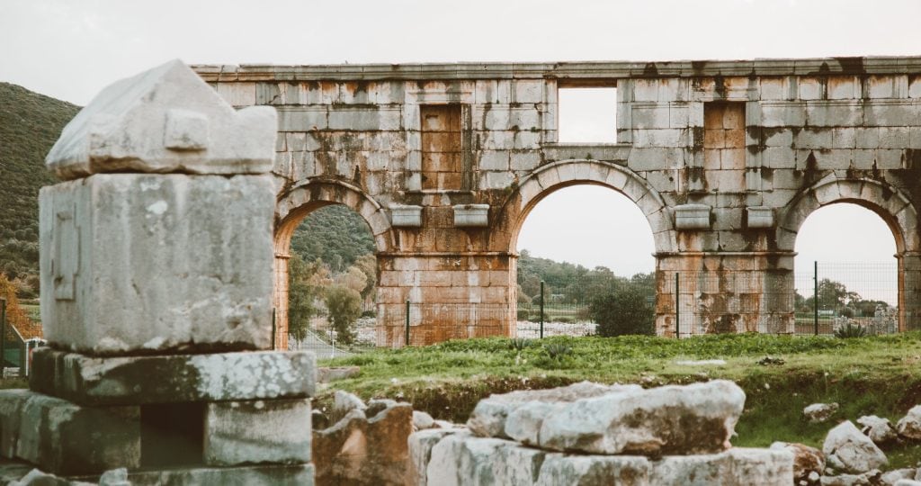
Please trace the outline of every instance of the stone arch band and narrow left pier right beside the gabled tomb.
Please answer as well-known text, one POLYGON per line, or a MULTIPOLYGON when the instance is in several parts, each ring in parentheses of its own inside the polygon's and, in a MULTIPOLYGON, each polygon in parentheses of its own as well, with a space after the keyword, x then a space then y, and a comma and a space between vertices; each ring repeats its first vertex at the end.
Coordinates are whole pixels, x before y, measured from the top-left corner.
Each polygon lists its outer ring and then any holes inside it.
POLYGON ((387 212, 378 201, 355 185, 343 181, 308 181, 278 196, 274 218, 275 349, 287 349, 287 264, 291 257, 291 237, 309 213, 334 204, 349 207, 365 219, 374 235, 376 253, 390 252, 395 247, 387 212))

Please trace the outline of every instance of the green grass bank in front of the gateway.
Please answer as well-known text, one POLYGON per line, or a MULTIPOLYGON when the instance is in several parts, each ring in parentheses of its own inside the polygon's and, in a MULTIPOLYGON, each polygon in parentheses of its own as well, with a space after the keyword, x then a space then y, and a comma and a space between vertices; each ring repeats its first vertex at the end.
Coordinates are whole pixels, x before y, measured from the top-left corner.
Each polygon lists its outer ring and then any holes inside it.
MULTIPOLYGON (((426 348, 375 350, 323 365, 358 365, 361 373, 336 382, 361 397, 410 401, 437 418, 465 421, 490 393, 565 385, 580 380, 643 385, 686 384, 714 378, 739 383, 747 395, 735 445, 774 441, 820 446, 836 421, 810 424, 804 407, 837 402, 836 420, 875 414, 897 421, 921 403, 921 333, 872 338, 722 335, 688 339, 655 337, 546 338, 517 350, 507 338, 458 340, 426 348), (557 359, 546 346, 565 344, 557 359), (765 356, 781 365, 761 365, 765 356), (726 360, 725 366, 680 366, 679 360, 726 360)), ((321 392, 326 403, 331 389, 321 392)), ((891 468, 915 466, 919 446, 886 451, 891 468)))

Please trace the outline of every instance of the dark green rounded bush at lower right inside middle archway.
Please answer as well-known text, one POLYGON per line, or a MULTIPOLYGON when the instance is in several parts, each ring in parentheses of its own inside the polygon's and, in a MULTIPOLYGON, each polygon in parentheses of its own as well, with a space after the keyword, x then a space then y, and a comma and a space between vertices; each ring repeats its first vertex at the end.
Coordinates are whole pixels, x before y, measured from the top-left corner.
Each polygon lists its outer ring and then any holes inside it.
POLYGON ((655 314, 644 292, 634 285, 596 297, 589 305, 598 334, 604 337, 627 334, 655 334, 655 314))

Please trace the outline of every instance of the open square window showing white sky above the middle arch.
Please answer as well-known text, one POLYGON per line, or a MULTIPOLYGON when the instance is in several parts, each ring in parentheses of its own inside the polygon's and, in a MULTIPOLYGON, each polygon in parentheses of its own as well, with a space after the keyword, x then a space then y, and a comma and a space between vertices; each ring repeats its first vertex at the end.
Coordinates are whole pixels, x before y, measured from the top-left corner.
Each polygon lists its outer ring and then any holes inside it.
POLYGON ((560 88, 557 97, 560 143, 617 143, 616 88, 560 88))

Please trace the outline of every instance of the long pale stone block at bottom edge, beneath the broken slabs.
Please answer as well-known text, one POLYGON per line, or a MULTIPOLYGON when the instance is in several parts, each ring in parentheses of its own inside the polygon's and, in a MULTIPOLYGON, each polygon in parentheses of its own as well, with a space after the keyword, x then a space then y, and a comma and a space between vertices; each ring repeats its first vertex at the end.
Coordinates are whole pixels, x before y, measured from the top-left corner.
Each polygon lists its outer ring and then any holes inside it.
MULTIPOLYGON (((788 486, 793 477, 793 455, 785 450, 737 447, 719 454, 653 460, 647 456, 551 453, 466 432, 414 435, 411 448, 414 443, 430 447, 426 482, 420 479, 417 484, 788 486)), ((424 456, 414 456, 413 468, 420 478, 419 461, 424 456)))

